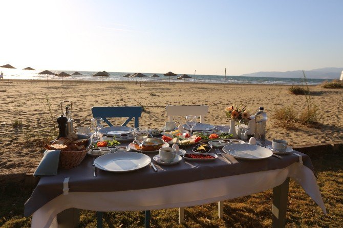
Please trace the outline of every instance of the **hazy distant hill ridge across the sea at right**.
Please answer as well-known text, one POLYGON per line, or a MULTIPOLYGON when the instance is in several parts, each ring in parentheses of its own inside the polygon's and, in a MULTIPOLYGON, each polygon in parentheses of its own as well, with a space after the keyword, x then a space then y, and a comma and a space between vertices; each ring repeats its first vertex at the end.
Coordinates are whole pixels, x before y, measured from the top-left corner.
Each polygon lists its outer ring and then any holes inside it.
MULTIPOLYGON (((311 71, 305 71, 307 78, 316 79, 339 79, 340 73, 343 71, 343 67, 325 67, 320 69, 314 69, 311 71)), ((256 72, 250 74, 244 74, 240 76, 246 77, 275 77, 275 78, 302 78, 302 71, 286 71, 286 72, 256 72)))

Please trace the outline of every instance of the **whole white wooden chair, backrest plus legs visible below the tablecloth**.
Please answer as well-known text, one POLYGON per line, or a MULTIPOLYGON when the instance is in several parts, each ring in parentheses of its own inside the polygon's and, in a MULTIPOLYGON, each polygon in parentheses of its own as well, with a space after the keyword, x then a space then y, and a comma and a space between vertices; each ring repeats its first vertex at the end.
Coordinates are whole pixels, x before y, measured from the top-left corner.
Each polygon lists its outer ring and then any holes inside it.
MULTIPOLYGON (((180 120, 178 116, 199 116, 200 123, 205 123, 205 116, 208 112, 208 106, 206 105, 168 105, 165 107, 167 111, 167 115, 169 117, 169 121, 174 121, 174 118, 179 121, 180 124, 184 122, 184 120, 180 120)), ((179 208, 179 223, 182 224, 184 222, 184 213, 185 208, 179 208)), ((218 216, 219 218, 223 218, 224 213, 224 202, 218 202, 218 216)))

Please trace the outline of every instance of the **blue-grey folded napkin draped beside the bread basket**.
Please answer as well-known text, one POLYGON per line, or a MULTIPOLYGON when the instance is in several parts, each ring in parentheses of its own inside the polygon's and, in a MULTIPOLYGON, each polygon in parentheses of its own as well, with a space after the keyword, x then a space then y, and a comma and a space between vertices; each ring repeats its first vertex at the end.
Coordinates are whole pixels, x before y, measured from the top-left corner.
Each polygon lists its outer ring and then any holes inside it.
POLYGON ((57 174, 60 150, 46 150, 33 176, 53 176, 57 174))

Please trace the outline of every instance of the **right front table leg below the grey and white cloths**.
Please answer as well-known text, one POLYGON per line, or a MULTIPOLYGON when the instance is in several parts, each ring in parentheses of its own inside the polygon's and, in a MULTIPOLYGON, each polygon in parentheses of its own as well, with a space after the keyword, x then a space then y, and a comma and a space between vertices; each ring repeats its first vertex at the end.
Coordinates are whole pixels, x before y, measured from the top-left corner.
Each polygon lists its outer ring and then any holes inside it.
POLYGON ((288 198, 289 178, 284 183, 273 188, 273 228, 285 227, 288 198))

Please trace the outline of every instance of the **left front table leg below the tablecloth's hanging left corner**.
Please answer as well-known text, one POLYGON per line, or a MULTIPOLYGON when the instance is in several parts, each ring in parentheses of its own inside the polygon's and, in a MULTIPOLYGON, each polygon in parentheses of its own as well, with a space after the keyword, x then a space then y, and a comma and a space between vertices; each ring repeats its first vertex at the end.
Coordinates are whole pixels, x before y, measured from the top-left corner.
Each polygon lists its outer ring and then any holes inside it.
POLYGON ((80 225, 80 209, 70 208, 57 215, 58 228, 76 228, 80 225))

